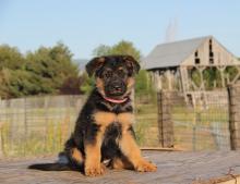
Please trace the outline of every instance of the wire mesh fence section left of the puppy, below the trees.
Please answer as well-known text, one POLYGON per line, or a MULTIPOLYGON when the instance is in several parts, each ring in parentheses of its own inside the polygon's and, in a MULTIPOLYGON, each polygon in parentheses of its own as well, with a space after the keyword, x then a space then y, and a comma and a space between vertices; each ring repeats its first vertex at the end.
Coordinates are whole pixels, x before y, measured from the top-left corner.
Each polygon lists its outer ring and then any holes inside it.
POLYGON ((47 155, 62 149, 83 105, 83 96, 0 100, 0 155, 47 155))

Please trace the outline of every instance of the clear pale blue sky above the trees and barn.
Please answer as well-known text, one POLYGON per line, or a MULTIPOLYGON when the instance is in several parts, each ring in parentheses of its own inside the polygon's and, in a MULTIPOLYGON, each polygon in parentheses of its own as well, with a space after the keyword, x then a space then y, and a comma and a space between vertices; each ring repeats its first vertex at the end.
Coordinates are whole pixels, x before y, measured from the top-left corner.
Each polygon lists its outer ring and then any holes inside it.
POLYGON ((0 0, 0 45, 23 53, 62 41, 91 59, 97 46, 124 39, 147 56, 169 37, 207 35, 240 57, 239 0, 0 0))

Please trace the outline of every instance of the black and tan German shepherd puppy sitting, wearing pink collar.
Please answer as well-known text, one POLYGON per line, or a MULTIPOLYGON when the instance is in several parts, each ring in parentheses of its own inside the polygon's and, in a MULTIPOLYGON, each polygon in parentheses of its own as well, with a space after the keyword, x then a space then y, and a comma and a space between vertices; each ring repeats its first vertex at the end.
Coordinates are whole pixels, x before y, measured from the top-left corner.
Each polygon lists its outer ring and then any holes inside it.
POLYGON ((133 131, 130 95, 139 70, 140 64, 130 56, 106 56, 89 61, 86 72, 89 76, 95 75, 96 86, 59 161, 33 164, 29 169, 62 171, 82 168, 88 176, 103 174, 106 164, 112 169, 156 171, 157 167, 141 156, 133 131))

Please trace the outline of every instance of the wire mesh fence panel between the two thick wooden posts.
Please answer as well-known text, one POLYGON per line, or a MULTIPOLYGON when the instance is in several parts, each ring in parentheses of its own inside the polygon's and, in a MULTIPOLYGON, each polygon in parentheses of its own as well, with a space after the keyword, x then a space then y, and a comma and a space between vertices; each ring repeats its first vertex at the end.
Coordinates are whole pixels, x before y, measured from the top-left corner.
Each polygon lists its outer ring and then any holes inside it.
POLYGON ((171 94, 173 145, 184 150, 228 150, 229 106, 227 90, 191 94, 189 103, 182 93, 171 94))

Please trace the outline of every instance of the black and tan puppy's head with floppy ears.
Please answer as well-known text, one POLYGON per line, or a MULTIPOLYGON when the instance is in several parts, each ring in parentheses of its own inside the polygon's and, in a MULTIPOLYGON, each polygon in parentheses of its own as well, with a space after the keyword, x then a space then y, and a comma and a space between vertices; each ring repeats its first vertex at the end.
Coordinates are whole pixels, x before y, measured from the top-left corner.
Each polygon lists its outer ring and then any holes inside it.
POLYGON ((131 93, 139 70, 140 64, 131 56, 99 57, 86 64, 88 75, 95 75, 98 91, 111 99, 123 99, 131 93))

